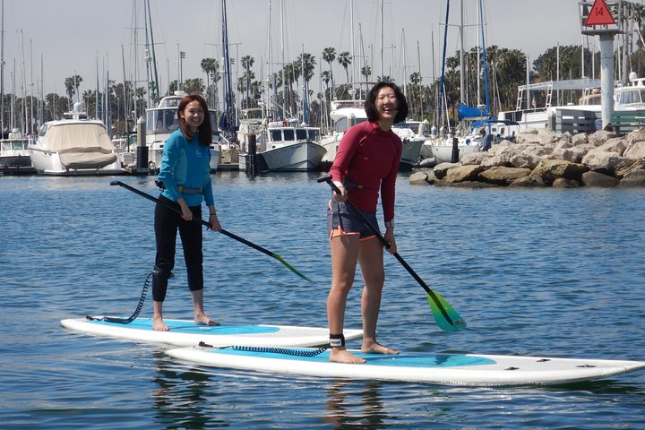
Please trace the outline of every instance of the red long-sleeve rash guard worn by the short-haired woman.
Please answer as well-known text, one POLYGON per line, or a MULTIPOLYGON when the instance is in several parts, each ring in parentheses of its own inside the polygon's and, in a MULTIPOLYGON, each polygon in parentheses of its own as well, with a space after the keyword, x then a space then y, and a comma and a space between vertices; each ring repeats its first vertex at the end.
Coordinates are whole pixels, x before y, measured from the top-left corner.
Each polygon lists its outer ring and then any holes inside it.
POLYGON ((383 218, 394 218, 394 186, 403 144, 394 132, 365 121, 345 132, 330 168, 331 179, 346 184, 348 199, 362 211, 376 211, 379 189, 383 218))

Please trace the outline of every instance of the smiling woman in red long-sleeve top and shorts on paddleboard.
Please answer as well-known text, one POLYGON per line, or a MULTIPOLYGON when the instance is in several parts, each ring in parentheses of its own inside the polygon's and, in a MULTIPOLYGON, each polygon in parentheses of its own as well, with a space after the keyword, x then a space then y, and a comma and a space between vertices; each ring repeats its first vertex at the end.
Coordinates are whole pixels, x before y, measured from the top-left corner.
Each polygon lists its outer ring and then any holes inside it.
POLYGON ((331 289, 327 297, 327 318, 330 361, 340 363, 365 362, 345 348, 343 336, 345 308, 357 262, 365 282, 361 297, 361 350, 381 354, 399 353, 376 341, 376 323, 385 280, 383 245, 345 202, 352 202, 376 227, 376 206, 380 192, 386 228, 383 236, 391 245, 388 252, 396 253, 394 197, 402 142, 391 131, 391 127, 408 116, 408 102, 394 83, 378 82, 367 95, 365 109, 368 120, 345 132, 330 168, 331 179, 339 187, 340 194, 332 193, 327 211, 331 247, 331 289))

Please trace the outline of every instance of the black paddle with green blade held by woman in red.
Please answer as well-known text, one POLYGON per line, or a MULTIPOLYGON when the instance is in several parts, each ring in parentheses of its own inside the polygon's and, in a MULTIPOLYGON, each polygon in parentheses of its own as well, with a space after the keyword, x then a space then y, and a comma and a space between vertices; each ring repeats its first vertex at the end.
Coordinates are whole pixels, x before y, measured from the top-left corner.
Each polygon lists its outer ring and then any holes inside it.
MULTIPOLYGON (((331 181, 331 176, 323 176, 318 178, 318 182, 326 182, 331 186, 331 189, 335 192, 340 194, 340 189, 338 186, 336 186, 332 181, 331 181)), ((379 238, 383 246, 386 248, 390 248, 390 243, 385 240, 385 237, 381 235, 381 232, 378 230, 378 228, 375 228, 372 223, 366 219, 366 216, 363 215, 363 212, 359 211, 356 206, 354 206, 354 203, 350 202, 349 200, 345 201, 345 204, 348 205, 352 209, 352 211, 355 211, 357 215, 363 219, 363 222, 365 222, 367 228, 372 230, 372 233, 376 237, 379 238)), ((413 271, 412 268, 409 266, 408 262, 403 260, 403 257, 399 255, 399 253, 392 253, 394 257, 401 263, 403 267, 406 268, 406 270, 409 272, 410 275, 412 275, 412 278, 417 280, 418 284, 423 287, 426 290, 427 297, 428 297, 428 303, 430 304, 430 310, 433 313, 434 316, 434 321, 436 321, 437 325, 439 328, 441 328, 443 331, 455 331, 455 330, 460 330, 460 329, 465 329, 466 328, 466 322, 464 322, 463 318, 460 317, 460 314, 457 314, 457 311, 455 311, 451 305, 448 304, 448 302, 443 299, 443 297, 439 296, 436 292, 434 292, 430 287, 426 285, 426 282, 422 280, 418 275, 416 271, 413 271)))

